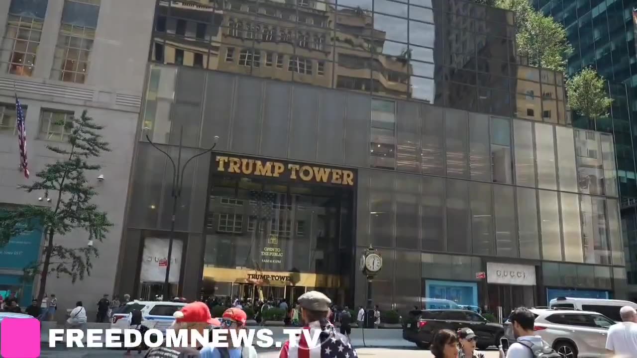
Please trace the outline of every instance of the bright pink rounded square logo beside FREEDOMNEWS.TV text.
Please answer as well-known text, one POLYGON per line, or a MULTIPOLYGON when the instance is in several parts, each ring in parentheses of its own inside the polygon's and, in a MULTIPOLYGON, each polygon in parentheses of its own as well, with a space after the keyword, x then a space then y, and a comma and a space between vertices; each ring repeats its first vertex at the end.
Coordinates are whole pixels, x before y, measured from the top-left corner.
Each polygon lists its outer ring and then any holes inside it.
POLYGON ((37 319, 3 319, 0 322, 2 358, 38 358, 40 328, 37 319))

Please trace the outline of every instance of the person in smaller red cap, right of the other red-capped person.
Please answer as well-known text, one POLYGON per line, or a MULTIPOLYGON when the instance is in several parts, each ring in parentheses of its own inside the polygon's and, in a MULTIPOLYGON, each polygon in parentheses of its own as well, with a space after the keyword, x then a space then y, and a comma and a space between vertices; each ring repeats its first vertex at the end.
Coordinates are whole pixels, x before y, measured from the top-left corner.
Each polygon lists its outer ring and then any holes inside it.
MULTIPOLYGON (((234 330, 237 333, 241 329, 245 329, 245 322, 248 320, 245 311, 240 308, 228 308, 224 311, 221 319, 222 329, 227 329, 227 341, 228 345, 233 344, 230 331, 234 330)), ((254 347, 241 345, 241 347, 204 347, 200 351, 201 358, 257 358, 257 350, 254 347)))

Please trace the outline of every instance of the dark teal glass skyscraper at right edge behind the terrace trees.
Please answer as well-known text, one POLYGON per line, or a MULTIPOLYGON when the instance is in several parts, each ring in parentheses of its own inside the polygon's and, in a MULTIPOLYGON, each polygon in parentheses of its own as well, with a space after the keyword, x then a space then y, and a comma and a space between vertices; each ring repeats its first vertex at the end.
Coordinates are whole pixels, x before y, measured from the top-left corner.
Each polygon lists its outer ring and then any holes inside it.
MULTIPOLYGON (((612 132, 621 198, 622 233, 626 245, 626 270, 631 298, 637 297, 637 185, 633 143, 637 127, 637 57, 635 57, 635 0, 532 0, 533 6, 551 15, 566 28, 573 54, 567 75, 596 68, 608 80, 613 99, 608 117, 592 122, 573 113, 573 126, 612 132)), ((582 185, 582 183, 580 183, 582 185)))

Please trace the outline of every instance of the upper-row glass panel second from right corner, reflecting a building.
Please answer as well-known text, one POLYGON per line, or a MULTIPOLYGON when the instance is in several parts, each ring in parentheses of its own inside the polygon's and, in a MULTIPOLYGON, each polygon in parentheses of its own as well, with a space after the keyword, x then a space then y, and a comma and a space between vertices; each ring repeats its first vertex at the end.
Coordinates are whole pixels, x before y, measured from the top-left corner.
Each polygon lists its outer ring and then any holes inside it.
POLYGON ((580 192, 604 194, 604 168, 599 133, 575 129, 575 160, 580 192))

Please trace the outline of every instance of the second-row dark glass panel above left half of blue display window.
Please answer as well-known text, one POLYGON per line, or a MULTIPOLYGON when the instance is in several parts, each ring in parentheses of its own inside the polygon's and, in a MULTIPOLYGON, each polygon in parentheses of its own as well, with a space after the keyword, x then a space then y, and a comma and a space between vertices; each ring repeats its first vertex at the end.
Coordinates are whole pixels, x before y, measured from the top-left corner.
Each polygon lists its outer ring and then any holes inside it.
POLYGON ((422 177, 422 250, 445 250, 445 180, 422 177))

